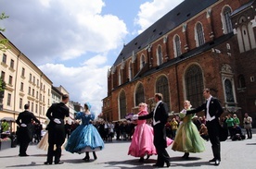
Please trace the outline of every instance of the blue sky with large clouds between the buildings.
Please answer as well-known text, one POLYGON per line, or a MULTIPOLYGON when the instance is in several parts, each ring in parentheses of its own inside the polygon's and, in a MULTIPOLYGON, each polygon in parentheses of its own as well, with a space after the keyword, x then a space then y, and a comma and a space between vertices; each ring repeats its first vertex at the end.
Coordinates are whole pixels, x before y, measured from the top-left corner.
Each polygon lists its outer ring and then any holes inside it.
POLYGON ((183 0, 0 0, 2 32, 70 100, 96 115, 108 70, 131 42, 183 0))

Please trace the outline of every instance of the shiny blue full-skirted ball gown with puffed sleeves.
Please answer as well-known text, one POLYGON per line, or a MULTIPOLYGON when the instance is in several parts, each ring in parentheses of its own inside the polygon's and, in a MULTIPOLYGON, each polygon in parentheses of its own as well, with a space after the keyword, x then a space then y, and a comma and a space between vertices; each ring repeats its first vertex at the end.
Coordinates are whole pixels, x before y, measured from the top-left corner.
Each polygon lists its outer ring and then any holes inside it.
POLYGON ((83 112, 77 113, 76 119, 82 119, 82 125, 77 127, 70 135, 66 151, 82 153, 85 151, 101 151, 104 148, 104 141, 101 139, 96 127, 90 124, 95 119, 94 114, 86 115, 83 112))

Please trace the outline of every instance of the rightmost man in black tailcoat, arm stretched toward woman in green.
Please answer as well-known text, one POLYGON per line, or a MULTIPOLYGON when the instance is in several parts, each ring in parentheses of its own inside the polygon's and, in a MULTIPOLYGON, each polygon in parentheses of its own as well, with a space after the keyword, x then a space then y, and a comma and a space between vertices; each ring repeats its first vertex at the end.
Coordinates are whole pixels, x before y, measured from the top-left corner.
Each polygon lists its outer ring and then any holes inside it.
POLYGON ((207 100, 206 103, 201 104, 194 110, 186 111, 186 115, 195 114, 204 110, 206 116, 206 127, 208 128, 208 135, 213 152, 213 159, 211 159, 209 162, 214 162, 215 165, 219 165, 221 161, 221 126, 219 123, 219 117, 223 114, 224 110, 219 100, 211 96, 209 89, 203 90, 203 96, 207 100))

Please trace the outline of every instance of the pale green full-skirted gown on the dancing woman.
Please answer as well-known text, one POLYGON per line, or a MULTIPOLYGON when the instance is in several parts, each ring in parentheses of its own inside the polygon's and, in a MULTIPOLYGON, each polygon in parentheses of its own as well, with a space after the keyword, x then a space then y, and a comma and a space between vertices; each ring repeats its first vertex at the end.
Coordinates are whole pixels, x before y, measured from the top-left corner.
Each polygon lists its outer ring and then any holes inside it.
POLYGON ((205 140, 198 132, 198 127, 193 123, 194 115, 180 113, 183 122, 178 127, 174 142, 173 151, 182 152, 202 152, 205 151, 205 140))

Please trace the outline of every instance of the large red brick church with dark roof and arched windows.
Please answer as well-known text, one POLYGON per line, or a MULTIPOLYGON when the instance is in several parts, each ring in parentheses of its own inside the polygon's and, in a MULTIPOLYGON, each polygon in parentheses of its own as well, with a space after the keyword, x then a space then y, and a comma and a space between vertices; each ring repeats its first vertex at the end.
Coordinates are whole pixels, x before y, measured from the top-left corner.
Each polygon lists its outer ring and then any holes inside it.
POLYGON ((139 103, 150 112, 156 92, 173 115, 184 100, 205 102, 209 88, 225 113, 256 121, 255 35, 256 0, 185 0, 123 46, 108 72, 102 117, 123 120, 139 103))

